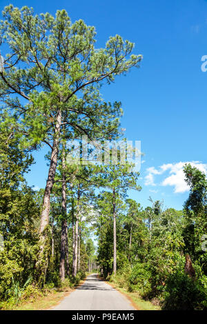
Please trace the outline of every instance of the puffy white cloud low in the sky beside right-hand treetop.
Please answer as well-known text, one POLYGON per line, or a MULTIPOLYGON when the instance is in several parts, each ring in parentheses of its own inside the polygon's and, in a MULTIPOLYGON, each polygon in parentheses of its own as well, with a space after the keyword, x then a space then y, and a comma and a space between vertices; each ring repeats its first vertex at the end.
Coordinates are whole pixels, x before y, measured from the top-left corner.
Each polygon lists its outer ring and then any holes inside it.
POLYGON ((162 180, 160 184, 162 186, 171 185, 172 187, 174 187, 175 193, 183 193, 188 191, 189 187, 186 184, 183 170, 186 163, 190 163, 190 165, 192 165, 193 167, 207 174, 207 164, 201 163, 199 161, 168 163, 159 166, 158 169, 155 169, 154 167, 148 168, 148 174, 145 177, 145 185, 155 186, 155 175, 161 175, 164 174, 164 172, 168 171, 168 176, 166 176, 166 178, 162 180))

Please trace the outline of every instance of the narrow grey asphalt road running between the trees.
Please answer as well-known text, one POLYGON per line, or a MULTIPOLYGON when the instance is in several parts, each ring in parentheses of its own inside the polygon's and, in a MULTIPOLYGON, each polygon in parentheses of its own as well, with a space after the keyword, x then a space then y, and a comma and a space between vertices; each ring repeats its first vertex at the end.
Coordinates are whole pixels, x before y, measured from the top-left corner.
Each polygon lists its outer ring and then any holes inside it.
POLYGON ((135 310, 130 301, 96 274, 86 281, 52 310, 135 310))

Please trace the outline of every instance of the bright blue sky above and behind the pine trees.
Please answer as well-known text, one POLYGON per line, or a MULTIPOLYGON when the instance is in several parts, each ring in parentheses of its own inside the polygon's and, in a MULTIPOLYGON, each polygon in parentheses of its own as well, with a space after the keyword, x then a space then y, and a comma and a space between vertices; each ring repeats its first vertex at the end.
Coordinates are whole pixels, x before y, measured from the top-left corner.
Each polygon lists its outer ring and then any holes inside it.
MULTIPOLYGON (((66 9, 72 21, 83 19, 96 27, 97 48, 120 34, 135 42, 143 54, 139 69, 118 77, 101 89, 106 101, 121 101, 122 127, 129 140, 140 140, 144 152, 141 192, 131 192, 141 205, 148 197, 181 209, 188 196, 181 167, 194 162, 204 172, 206 161, 207 72, 201 57, 207 54, 207 1, 0 1, 32 6, 34 12, 66 9), (170 179, 169 179, 170 178, 170 179)), ((34 154, 36 164, 28 183, 43 188, 47 166, 44 150, 34 154)))

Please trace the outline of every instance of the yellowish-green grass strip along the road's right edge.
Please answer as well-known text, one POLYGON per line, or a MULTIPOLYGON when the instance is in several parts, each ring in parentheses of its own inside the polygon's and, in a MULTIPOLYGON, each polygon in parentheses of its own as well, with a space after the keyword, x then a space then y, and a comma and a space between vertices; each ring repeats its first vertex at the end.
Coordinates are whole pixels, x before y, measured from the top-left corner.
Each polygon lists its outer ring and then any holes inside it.
MULTIPOLYGON (((101 276, 99 276, 99 279, 105 281, 101 276)), ((108 285, 121 292, 121 294, 124 294, 136 310, 161 310, 159 306, 153 305, 150 301, 144 301, 144 299, 139 296, 138 292, 128 292, 113 281, 105 281, 105 283, 108 283, 108 285)))

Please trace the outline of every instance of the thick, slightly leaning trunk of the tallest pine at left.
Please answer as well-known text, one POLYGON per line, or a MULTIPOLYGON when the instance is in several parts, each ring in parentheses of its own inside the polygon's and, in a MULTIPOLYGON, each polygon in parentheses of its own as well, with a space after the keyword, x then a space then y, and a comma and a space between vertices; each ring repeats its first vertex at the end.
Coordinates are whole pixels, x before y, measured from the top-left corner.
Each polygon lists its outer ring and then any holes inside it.
MULTIPOLYGON (((49 215, 50 215, 50 194, 52 192, 52 187, 55 182, 55 172, 57 168, 57 156, 59 151, 59 138, 61 130, 61 111, 59 110, 57 114, 57 122, 55 125, 55 136, 52 144, 52 152, 50 157, 50 168, 48 171, 48 179, 46 182, 46 188, 43 196, 43 206, 41 212, 41 223, 39 227, 40 234, 40 247, 39 247, 39 256, 36 262, 36 272, 39 285, 42 285, 46 278, 46 272, 48 268, 48 252, 47 252, 47 234, 46 227, 49 224, 49 215)), ((48 244, 50 244, 48 242, 48 244)))

